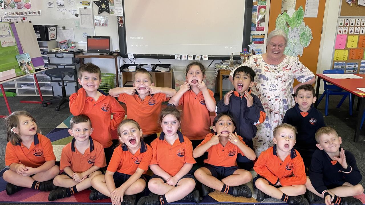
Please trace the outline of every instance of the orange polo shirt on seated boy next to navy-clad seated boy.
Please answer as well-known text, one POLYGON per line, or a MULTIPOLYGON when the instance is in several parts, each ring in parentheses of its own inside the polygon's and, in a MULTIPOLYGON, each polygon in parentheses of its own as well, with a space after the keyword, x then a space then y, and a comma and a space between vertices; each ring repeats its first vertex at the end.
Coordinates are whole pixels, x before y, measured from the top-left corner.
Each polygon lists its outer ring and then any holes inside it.
POLYGON ((283 186, 305 184, 307 181, 303 159, 294 148, 283 162, 277 156, 275 144, 261 152, 253 169, 273 185, 278 181, 283 186))

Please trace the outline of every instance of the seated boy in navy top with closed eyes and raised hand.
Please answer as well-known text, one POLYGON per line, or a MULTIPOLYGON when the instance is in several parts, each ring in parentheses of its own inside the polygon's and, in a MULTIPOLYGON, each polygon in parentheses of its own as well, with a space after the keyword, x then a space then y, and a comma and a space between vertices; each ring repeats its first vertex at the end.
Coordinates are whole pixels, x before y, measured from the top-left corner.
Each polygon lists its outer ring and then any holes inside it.
POLYGON ((342 139, 335 129, 322 127, 315 134, 318 142, 307 177, 306 195, 310 203, 324 198, 326 204, 360 205, 352 196, 362 194, 361 173, 354 155, 341 148, 342 139))

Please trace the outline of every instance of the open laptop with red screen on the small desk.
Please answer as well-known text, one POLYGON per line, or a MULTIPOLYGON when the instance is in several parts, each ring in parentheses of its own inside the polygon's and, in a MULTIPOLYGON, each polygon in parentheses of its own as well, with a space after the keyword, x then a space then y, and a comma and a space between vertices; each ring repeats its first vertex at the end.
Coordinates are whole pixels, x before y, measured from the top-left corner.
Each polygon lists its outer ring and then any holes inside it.
POLYGON ((87 36, 85 55, 103 55, 110 52, 110 36, 87 36))

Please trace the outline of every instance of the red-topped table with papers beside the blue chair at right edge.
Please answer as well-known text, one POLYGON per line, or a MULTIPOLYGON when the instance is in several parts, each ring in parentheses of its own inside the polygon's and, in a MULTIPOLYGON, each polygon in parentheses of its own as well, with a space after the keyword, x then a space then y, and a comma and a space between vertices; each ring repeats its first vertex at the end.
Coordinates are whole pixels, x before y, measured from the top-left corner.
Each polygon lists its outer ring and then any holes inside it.
POLYGON ((320 78, 331 84, 337 85, 338 87, 352 93, 354 96, 357 96, 359 98, 358 105, 357 105, 359 108, 359 112, 357 114, 357 123, 356 123, 355 136, 354 136, 354 142, 357 142, 359 140, 361 119, 362 119, 362 115, 364 113, 365 93, 356 88, 365 88, 365 74, 355 74, 355 75, 361 76, 363 78, 361 78, 361 79, 360 78, 358 78, 358 79, 357 78, 335 79, 335 78, 330 78, 330 77, 324 76, 324 74, 316 74, 316 76, 318 76, 317 87, 316 87, 317 101, 315 102, 314 107, 317 108, 320 78))

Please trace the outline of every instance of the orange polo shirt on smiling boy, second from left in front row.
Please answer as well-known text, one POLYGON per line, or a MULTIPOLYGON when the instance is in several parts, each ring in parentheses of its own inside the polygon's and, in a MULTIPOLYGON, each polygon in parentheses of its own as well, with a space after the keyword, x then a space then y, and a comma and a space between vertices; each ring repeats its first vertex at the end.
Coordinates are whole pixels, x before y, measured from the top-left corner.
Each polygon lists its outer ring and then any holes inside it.
POLYGON ((103 146, 89 137, 90 147, 86 149, 84 154, 81 154, 75 147, 76 139, 73 138, 72 142, 66 144, 62 149, 61 162, 59 169, 63 170, 69 166, 75 173, 83 173, 90 169, 92 166, 105 167, 107 163, 105 161, 105 154, 103 146))

